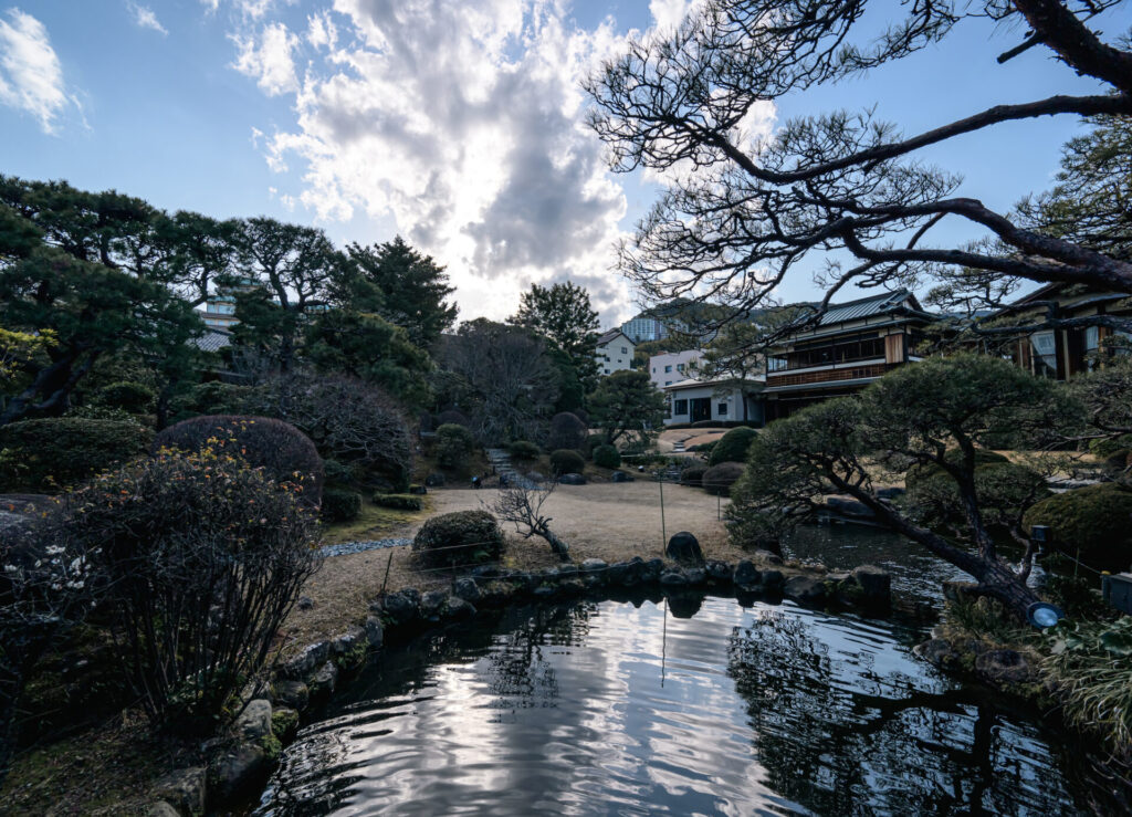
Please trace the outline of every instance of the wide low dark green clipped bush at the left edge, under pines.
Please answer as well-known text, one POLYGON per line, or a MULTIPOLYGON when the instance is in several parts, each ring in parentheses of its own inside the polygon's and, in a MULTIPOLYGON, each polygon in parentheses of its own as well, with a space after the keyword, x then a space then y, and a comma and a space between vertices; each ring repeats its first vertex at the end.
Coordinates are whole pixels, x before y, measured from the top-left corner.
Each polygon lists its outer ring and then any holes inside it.
POLYGON ((145 456, 153 432, 136 422, 50 418, 0 428, 0 490, 53 493, 145 456))

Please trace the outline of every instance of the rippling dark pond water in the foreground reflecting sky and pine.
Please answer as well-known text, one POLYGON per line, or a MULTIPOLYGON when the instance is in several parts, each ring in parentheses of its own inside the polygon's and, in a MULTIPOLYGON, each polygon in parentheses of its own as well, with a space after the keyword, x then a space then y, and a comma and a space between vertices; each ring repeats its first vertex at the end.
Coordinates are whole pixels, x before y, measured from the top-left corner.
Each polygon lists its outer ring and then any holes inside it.
POLYGON ((919 634, 729 599, 525 608, 387 651, 258 815, 1074 815, 1082 752, 919 634))

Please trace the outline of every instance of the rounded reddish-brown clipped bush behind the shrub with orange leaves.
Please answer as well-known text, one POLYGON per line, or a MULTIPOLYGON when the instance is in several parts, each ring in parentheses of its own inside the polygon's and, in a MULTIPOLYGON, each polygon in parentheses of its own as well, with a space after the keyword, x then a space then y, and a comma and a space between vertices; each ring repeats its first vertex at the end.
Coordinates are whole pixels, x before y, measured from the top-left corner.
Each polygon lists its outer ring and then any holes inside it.
POLYGON ((187 453, 220 448, 263 468, 276 482, 297 485, 306 505, 318 507, 323 499, 323 461, 315 444, 282 420, 238 414, 182 420, 154 438, 153 452, 162 448, 187 453))

